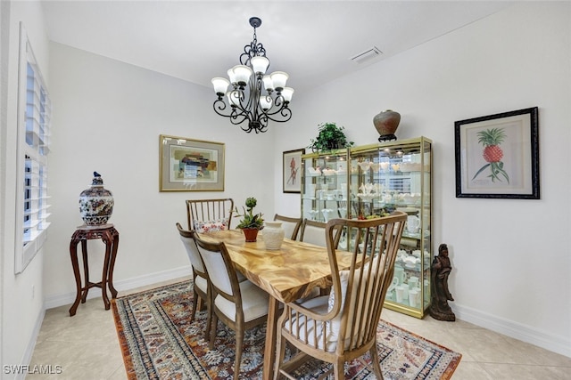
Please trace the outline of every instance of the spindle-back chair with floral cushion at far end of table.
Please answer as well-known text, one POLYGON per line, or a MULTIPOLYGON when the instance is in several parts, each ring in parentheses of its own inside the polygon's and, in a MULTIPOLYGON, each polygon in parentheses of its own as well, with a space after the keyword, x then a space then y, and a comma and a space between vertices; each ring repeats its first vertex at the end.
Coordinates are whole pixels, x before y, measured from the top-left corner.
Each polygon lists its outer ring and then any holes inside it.
POLYGON ((188 230, 196 230, 198 233, 228 230, 233 210, 232 198, 186 199, 188 230))

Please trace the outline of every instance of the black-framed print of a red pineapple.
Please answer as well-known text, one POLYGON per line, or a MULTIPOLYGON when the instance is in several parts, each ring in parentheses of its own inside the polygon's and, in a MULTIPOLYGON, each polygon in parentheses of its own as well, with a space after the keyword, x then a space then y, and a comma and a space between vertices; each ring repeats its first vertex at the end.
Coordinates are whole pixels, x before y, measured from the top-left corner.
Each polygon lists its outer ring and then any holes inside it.
POLYGON ((539 199, 538 109, 454 123, 457 198, 539 199))

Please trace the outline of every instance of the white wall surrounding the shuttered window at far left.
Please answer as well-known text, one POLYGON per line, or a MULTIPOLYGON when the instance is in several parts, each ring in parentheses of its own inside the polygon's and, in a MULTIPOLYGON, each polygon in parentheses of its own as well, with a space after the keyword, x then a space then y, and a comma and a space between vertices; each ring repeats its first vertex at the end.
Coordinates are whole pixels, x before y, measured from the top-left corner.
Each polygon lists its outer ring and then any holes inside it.
MULTIPOLYGON (((4 3, 4 2, 3 2, 4 3)), ((43 318, 43 255, 33 259, 26 271, 14 274, 15 214, 20 208, 16 199, 16 157, 17 157, 17 99, 18 99, 18 52, 20 22, 24 22, 29 41, 40 70, 49 84, 48 43, 41 7, 37 2, 12 2, 2 4, 2 138, 0 139, 0 177, 2 189, 2 364, 28 364, 37 330, 43 318), (4 23, 5 22, 5 23, 4 23), (7 57, 4 56, 7 54, 7 57), (4 71, 5 70, 5 71, 4 71), (5 83, 4 83, 5 81, 5 83), (5 85, 5 87, 4 87, 5 85), (5 112, 5 113, 4 113, 5 112), (35 290, 32 291, 32 288, 35 290)), ((4 374, 3 376, 8 376, 4 374)), ((13 376, 13 375, 10 375, 13 376)))

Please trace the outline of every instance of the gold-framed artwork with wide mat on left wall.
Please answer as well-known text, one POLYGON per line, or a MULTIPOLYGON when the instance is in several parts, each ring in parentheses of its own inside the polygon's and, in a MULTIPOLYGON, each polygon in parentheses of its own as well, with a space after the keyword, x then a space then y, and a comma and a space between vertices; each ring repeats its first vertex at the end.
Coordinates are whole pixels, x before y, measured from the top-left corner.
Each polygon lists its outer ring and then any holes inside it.
POLYGON ((224 190, 224 143, 161 134, 159 145, 160 191, 224 190))

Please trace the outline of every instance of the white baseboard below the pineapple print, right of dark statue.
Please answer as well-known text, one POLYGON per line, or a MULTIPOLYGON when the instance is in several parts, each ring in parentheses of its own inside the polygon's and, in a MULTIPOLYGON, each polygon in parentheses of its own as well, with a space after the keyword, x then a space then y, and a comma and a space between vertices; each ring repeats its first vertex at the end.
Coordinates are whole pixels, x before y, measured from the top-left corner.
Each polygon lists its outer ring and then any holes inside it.
POLYGON ((456 303, 451 307, 458 319, 571 358, 571 340, 565 336, 554 336, 456 303))

